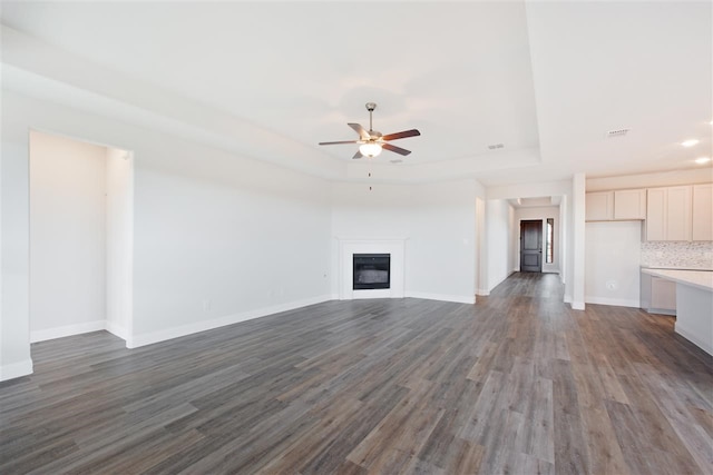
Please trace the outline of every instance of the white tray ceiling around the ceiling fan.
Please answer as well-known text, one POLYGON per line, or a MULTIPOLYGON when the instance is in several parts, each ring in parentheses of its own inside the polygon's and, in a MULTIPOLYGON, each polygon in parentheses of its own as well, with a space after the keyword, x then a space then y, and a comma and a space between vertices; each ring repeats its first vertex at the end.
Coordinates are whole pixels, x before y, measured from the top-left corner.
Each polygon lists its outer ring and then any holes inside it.
POLYGON ((336 164, 358 177, 354 146, 316 144, 354 139, 346 122, 368 127, 367 101, 379 105, 374 129, 422 133, 394 142, 413 151, 403 164, 387 151, 377 159, 384 179, 504 185, 681 169, 711 156, 707 1, 3 1, 1 14, 96 73, 72 77, 59 52, 30 67, 3 31, 6 66, 297 169, 336 164), (606 138, 621 128, 631 131, 606 138), (691 137, 701 142, 680 146, 691 137))

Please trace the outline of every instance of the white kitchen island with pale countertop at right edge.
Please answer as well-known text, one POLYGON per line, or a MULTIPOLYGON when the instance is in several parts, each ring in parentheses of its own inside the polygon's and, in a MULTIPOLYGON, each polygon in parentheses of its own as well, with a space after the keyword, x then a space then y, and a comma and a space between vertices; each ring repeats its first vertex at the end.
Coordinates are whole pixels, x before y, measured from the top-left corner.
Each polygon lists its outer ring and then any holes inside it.
POLYGON ((676 283, 675 331, 713 355, 713 271, 642 269, 676 283))

